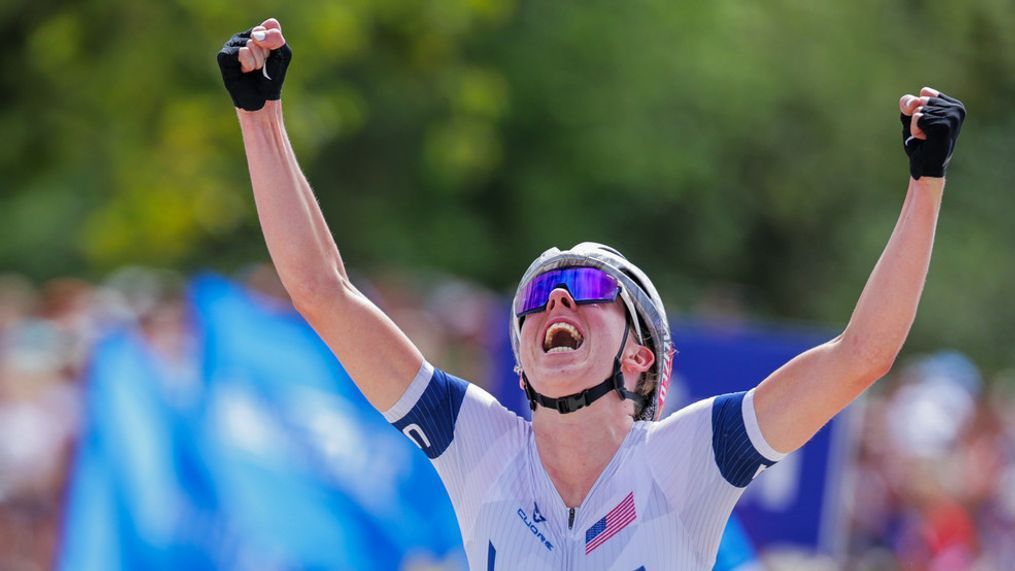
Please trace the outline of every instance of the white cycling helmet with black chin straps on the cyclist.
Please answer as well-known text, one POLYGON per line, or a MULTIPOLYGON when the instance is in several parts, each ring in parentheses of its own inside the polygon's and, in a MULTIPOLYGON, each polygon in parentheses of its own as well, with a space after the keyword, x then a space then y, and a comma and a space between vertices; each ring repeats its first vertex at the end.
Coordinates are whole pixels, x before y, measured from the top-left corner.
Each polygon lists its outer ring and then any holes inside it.
MULTIPOLYGON (((591 404, 603 394, 615 389, 621 398, 635 401, 634 417, 637 420, 659 420, 666 403, 666 394, 670 385, 670 374, 673 368, 673 340, 670 337, 670 325, 666 318, 666 308, 649 277, 637 266, 627 261, 616 249, 596 242, 582 242, 570 249, 560 251, 551 247, 539 256, 525 271, 519 282, 518 290, 512 301, 511 345, 515 352, 516 371, 522 375, 526 395, 530 406, 535 410, 537 404, 555 408, 561 414, 573 412, 591 404), (515 313, 519 297, 536 276, 560 268, 591 267, 605 271, 620 284, 620 297, 623 299, 630 315, 631 326, 637 336, 638 343, 653 351, 656 361, 652 368, 646 371, 638 380, 635 392, 622 388, 623 377, 619 372, 619 353, 614 362, 614 374, 602 383, 590 387, 577 395, 549 399, 537 394, 529 384, 522 362, 519 359, 519 337, 522 330, 522 319, 515 313), (612 385, 610 385, 612 383, 612 385), (646 392, 646 387, 651 389, 646 392), (599 390, 602 388, 603 390, 599 390), (640 394, 647 395, 641 399, 640 394), (640 409, 637 404, 640 402, 640 409)), ((625 331, 626 340, 626 331, 625 331)), ((622 350, 622 347, 621 347, 622 350)))

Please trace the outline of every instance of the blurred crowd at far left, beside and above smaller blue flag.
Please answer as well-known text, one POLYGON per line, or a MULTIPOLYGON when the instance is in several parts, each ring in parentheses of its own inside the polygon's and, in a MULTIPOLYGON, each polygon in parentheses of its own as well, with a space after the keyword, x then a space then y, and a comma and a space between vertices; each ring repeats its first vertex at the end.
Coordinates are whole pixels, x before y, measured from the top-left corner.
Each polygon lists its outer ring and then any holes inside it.
POLYGON ((54 567, 91 347, 138 326, 179 353, 183 279, 124 270, 96 286, 0 276, 0 569, 54 567))

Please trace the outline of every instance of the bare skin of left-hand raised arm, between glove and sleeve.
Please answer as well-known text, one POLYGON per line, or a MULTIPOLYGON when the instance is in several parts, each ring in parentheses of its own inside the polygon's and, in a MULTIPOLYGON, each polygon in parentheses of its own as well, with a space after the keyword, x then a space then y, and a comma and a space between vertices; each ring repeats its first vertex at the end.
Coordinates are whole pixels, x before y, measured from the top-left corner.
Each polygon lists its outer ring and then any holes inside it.
POLYGON ((387 410, 419 370, 422 355, 349 283, 285 135, 280 103, 238 113, 261 229, 286 291, 366 399, 387 410))

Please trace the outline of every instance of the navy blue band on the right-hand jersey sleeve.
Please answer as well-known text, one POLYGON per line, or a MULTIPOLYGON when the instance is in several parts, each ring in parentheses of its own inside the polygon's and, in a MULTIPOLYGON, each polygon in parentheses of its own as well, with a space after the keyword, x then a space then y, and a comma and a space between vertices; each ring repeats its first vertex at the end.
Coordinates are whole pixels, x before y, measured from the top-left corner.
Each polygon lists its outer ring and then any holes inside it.
POLYGON ((730 484, 744 488, 754 480, 758 469, 775 462, 754 448, 744 425, 744 396, 731 392, 716 397, 712 405, 712 451, 720 474, 730 484))

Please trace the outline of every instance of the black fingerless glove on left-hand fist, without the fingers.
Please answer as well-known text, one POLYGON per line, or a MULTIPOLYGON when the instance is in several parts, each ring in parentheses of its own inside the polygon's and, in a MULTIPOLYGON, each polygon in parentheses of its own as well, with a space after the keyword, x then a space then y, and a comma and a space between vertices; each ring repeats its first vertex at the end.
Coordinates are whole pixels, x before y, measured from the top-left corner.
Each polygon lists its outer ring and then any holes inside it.
POLYGON ((288 44, 272 50, 263 69, 244 73, 240 69, 240 49, 247 46, 252 29, 241 31, 225 43, 218 53, 218 68, 222 71, 222 80, 232 96, 232 103, 243 110, 258 111, 265 101, 282 97, 282 82, 292 59, 292 50, 288 44))

